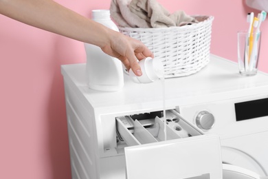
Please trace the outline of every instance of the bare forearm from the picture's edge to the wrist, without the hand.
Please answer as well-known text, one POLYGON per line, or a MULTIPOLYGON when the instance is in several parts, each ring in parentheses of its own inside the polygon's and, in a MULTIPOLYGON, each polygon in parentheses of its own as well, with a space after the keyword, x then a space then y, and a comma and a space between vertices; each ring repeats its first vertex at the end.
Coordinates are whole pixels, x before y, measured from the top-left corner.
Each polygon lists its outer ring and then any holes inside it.
POLYGON ((52 0, 0 0, 0 13, 36 28, 101 48, 109 31, 104 25, 69 10, 52 0))

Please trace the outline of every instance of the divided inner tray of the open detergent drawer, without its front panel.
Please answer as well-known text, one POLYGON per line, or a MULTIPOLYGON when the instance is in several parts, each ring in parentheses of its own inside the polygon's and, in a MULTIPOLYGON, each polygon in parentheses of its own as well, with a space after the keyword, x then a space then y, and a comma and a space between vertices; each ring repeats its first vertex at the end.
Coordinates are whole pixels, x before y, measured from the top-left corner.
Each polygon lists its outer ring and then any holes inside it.
POLYGON ((203 134, 175 110, 166 111, 166 121, 161 116, 159 112, 120 116, 116 118, 118 135, 128 146, 133 146, 203 134))

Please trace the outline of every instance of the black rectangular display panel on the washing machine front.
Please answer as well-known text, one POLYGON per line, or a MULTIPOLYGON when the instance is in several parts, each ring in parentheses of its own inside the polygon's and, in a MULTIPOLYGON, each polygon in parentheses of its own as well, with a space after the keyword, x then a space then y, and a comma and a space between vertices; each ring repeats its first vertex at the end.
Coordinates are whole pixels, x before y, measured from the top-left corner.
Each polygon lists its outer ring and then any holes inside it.
POLYGON ((268 116, 268 98, 235 103, 236 121, 268 116))

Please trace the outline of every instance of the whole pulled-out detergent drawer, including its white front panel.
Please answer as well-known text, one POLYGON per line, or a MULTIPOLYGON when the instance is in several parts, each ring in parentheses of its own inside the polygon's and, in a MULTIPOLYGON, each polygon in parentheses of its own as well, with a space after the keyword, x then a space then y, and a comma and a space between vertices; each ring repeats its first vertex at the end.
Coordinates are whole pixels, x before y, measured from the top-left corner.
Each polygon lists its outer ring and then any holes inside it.
POLYGON ((222 178, 219 136, 203 135, 175 110, 166 111, 166 121, 160 114, 116 120, 128 179, 222 178))

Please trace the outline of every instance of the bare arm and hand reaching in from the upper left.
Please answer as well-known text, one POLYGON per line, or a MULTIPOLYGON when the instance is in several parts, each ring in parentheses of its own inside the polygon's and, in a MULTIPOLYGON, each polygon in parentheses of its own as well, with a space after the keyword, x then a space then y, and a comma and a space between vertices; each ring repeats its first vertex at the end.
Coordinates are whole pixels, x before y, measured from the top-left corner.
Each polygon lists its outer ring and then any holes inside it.
POLYGON ((36 28, 98 45, 106 54, 120 59, 127 69, 132 68, 137 76, 142 75, 137 59, 153 57, 153 53, 142 42, 115 32, 52 0, 0 0, 0 14, 36 28))

